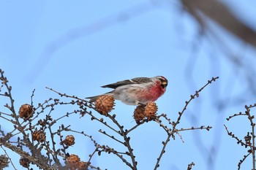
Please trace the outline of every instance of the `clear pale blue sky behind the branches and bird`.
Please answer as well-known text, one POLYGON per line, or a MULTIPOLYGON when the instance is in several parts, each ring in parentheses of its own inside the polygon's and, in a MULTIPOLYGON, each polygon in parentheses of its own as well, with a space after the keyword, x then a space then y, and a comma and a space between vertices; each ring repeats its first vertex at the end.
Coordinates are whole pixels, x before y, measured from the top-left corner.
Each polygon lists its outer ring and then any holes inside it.
MULTIPOLYGON (((252 9, 255 6, 250 5, 253 1, 225 3, 255 28, 255 18, 251 17, 255 15, 252 9)), ((208 22, 221 41, 208 32, 200 36, 199 26, 179 1, 1 1, 0 68, 13 87, 16 110, 21 104, 30 103, 33 89, 36 89, 34 103, 49 97, 59 98, 46 86, 85 98, 108 92, 99 88, 101 85, 163 75, 169 85, 157 101, 158 113, 166 113, 171 120, 176 120, 195 90, 211 77, 219 76, 217 82, 203 90, 200 98, 189 104, 179 126, 211 125, 213 129, 183 132, 184 143, 178 136, 170 141, 159 169, 187 169, 192 161, 193 169, 198 170, 236 169, 246 150, 227 136, 223 124, 241 139, 249 131, 246 118, 230 122, 225 118, 244 111, 244 104, 255 102, 246 82, 250 74, 244 69, 247 66, 252 69, 251 74, 255 73, 255 50, 208 22), (233 55, 244 58, 241 67, 230 59, 233 55), (245 100, 236 102, 240 97, 245 100), (219 107, 220 104, 225 107, 219 107), (207 155, 211 152, 217 155, 214 166, 209 167, 207 155)), ((66 109, 69 108, 59 108, 56 114, 65 114, 66 109)), ((129 128, 135 125, 134 109, 116 101, 113 113, 129 128)), ((87 132, 100 144, 119 148, 99 134, 97 130, 104 127, 88 117, 69 117, 64 123, 87 132)), ((150 122, 131 135, 138 169, 153 169, 166 139, 165 132, 157 123, 150 122)), ((92 146, 88 139, 81 138, 69 152, 81 155, 86 161, 92 146)), ((113 155, 96 156, 92 163, 102 169, 128 169, 113 155)), ((251 162, 247 160, 242 169, 250 168, 251 162)))

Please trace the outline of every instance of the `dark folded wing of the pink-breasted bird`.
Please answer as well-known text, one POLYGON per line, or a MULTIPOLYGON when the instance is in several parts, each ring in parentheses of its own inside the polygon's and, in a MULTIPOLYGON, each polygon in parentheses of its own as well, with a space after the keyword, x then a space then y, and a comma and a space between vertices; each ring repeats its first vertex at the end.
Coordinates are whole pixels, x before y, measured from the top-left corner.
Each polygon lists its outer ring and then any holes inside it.
POLYGON ((122 85, 132 85, 132 84, 140 84, 145 82, 151 82, 151 79, 148 77, 137 77, 131 80, 123 80, 120 82, 115 82, 109 85, 103 85, 102 88, 118 88, 122 85))

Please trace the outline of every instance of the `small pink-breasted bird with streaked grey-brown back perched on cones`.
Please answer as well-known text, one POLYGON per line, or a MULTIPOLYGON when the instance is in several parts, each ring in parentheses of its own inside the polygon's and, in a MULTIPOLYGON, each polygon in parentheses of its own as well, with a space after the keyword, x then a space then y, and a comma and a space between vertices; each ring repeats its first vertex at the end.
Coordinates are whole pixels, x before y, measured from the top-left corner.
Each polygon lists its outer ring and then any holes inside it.
MULTIPOLYGON (((165 77, 157 76, 123 80, 113 84, 103 85, 102 88, 114 89, 104 95, 113 96, 113 98, 122 101, 124 104, 138 105, 147 104, 149 101, 156 101, 157 98, 165 93, 167 85, 168 80, 165 77)), ((88 98, 90 98, 90 102, 94 102, 99 96, 88 98)))

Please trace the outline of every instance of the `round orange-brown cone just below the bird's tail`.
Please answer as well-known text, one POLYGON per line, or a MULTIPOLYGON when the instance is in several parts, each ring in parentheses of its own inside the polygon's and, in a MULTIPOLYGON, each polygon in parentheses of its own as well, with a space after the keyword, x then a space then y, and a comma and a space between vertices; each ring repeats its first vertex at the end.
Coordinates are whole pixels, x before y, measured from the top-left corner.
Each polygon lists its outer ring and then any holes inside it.
POLYGON ((95 109, 102 115, 107 115, 115 106, 115 99, 110 95, 102 95, 95 101, 95 109))

